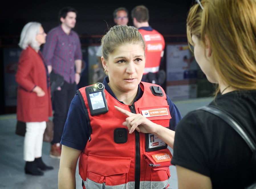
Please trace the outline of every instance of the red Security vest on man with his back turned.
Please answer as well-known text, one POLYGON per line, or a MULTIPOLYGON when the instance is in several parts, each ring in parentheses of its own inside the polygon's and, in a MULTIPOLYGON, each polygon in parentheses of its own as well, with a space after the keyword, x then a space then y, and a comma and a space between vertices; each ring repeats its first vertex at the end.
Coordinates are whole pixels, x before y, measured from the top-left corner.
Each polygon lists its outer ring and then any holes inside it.
POLYGON ((146 43, 146 63, 143 74, 158 72, 161 62, 161 52, 165 47, 164 37, 154 29, 153 31, 139 29, 139 32, 146 43))

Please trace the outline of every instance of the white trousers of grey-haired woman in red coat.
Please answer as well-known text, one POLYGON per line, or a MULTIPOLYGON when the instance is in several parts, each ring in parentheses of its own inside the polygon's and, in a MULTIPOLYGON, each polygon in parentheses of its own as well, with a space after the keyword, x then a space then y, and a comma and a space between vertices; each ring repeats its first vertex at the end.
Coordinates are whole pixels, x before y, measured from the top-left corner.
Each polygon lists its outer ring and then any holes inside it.
POLYGON ((43 135, 46 121, 27 122, 24 138, 24 160, 34 161, 42 156, 43 135))

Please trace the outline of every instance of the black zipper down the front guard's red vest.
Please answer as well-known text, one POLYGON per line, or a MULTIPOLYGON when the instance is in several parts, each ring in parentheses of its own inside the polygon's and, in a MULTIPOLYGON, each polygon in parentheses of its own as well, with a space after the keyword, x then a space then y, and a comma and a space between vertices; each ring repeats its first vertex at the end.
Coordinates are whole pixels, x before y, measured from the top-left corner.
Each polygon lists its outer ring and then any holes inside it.
MULTIPOLYGON (((129 105, 131 113, 136 114, 134 103, 129 105)), ((141 178, 141 155, 140 155, 140 135, 139 132, 135 130, 135 183, 134 188, 140 188, 140 178, 141 178)))

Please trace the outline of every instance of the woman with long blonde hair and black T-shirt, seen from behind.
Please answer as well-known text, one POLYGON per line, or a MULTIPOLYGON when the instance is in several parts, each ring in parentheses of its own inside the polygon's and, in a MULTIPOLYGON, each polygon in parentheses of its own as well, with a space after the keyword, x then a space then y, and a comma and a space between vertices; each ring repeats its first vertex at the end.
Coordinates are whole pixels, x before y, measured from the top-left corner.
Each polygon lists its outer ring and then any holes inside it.
MULTIPOLYGON (((202 0, 189 11, 187 35, 200 68, 218 84, 210 105, 229 113, 256 143, 256 1, 202 0)), ((245 188, 256 178, 251 161, 243 138, 214 114, 192 111, 176 128, 172 164, 180 189, 245 188)))

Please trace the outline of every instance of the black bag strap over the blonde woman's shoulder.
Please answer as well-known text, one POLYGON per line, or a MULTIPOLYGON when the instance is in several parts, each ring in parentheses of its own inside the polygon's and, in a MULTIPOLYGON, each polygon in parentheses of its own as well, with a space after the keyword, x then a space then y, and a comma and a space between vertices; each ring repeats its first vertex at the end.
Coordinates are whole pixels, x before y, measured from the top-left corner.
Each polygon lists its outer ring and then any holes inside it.
MULTIPOLYGON (((244 139, 244 141, 247 143, 247 145, 253 152, 252 159, 251 159, 251 167, 253 168, 254 176, 256 176, 256 145, 254 141, 250 138, 250 136, 243 130, 243 128, 233 118, 231 118, 229 113, 225 112, 224 110, 217 109, 216 107, 213 107, 211 105, 200 107, 197 110, 208 111, 220 117, 244 139)), ((250 186, 245 187, 245 189, 256 189, 256 182, 254 182, 250 186)))

